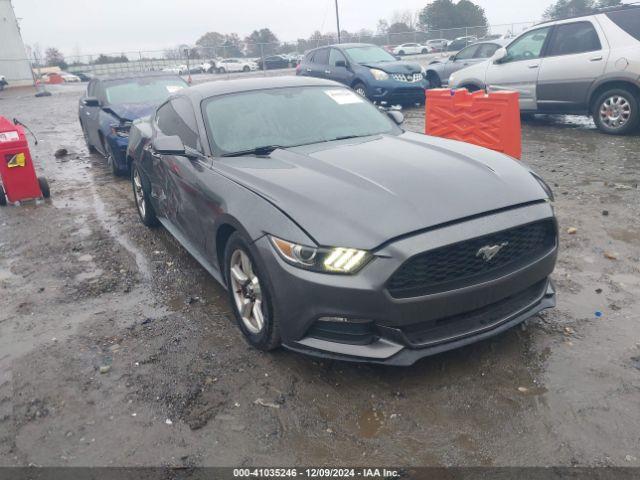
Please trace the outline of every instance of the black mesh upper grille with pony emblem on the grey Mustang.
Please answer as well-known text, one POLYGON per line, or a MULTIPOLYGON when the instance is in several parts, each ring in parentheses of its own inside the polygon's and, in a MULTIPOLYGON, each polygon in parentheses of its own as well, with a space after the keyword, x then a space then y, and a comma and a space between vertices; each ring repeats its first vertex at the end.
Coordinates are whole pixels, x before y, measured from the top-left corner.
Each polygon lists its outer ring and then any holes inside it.
POLYGON ((549 253, 556 236, 553 220, 544 220, 430 250, 407 260, 387 289, 410 298, 498 278, 549 253))

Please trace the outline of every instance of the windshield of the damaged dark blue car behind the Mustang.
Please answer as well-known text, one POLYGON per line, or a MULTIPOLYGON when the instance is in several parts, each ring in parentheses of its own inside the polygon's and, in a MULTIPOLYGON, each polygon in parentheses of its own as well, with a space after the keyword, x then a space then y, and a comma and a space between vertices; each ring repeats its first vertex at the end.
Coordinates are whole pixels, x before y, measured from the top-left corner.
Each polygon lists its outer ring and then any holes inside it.
POLYGON ((188 87, 180 78, 134 78, 109 81, 105 85, 107 103, 160 104, 174 92, 188 87))

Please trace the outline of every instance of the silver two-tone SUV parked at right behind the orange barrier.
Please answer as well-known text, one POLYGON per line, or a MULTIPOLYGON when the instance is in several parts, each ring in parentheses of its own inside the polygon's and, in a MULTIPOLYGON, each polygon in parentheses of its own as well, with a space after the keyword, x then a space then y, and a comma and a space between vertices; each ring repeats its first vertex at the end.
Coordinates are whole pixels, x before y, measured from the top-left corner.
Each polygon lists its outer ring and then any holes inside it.
POLYGON ((449 84, 515 90, 523 113, 591 115, 605 133, 632 132, 640 124, 640 5, 537 25, 449 84))

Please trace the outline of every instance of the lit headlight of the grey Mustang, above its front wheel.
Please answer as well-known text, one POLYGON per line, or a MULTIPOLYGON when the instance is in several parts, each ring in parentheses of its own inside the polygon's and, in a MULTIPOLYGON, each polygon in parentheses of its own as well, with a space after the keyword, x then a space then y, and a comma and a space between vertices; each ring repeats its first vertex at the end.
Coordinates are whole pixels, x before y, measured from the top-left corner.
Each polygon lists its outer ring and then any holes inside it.
POLYGON ((373 258, 369 252, 355 248, 308 247, 278 237, 269 238, 285 262, 315 272, 354 274, 373 258))

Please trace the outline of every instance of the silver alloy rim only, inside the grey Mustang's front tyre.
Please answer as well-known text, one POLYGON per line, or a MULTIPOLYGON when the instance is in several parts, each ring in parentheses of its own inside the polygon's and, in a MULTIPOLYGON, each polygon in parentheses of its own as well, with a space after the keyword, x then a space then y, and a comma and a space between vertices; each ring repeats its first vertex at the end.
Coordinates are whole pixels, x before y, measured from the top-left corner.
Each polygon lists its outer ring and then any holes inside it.
POLYGON ((265 325, 262 289, 249 256, 237 249, 231 255, 229 265, 231 289, 240 318, 246 329, 258 334, 265 325))

